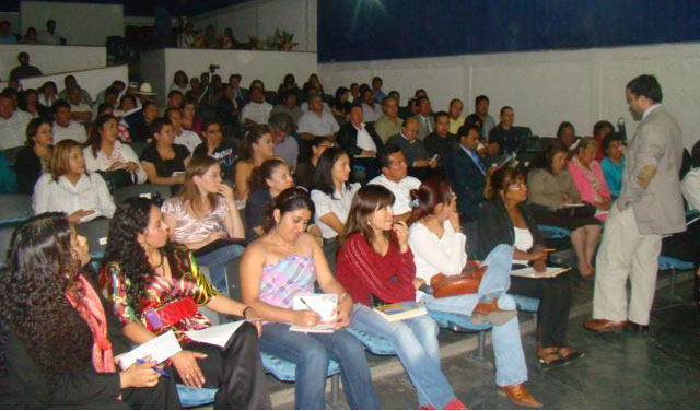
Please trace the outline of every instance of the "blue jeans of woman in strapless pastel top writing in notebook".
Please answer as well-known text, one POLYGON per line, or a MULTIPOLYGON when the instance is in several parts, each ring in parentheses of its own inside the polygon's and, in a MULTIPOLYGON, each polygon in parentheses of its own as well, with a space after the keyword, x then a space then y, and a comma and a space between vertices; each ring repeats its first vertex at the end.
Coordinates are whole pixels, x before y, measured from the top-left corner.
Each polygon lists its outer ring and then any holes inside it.
POLYGON ((260 351, 296 364, 294 407, 323 410, 328 361, 340 365, 340 378, 352 409, 378 409, 364 348, 346 330, 332 333, 304 333, 289 330, 289 324, 270 322, 262 327, 260 351))

